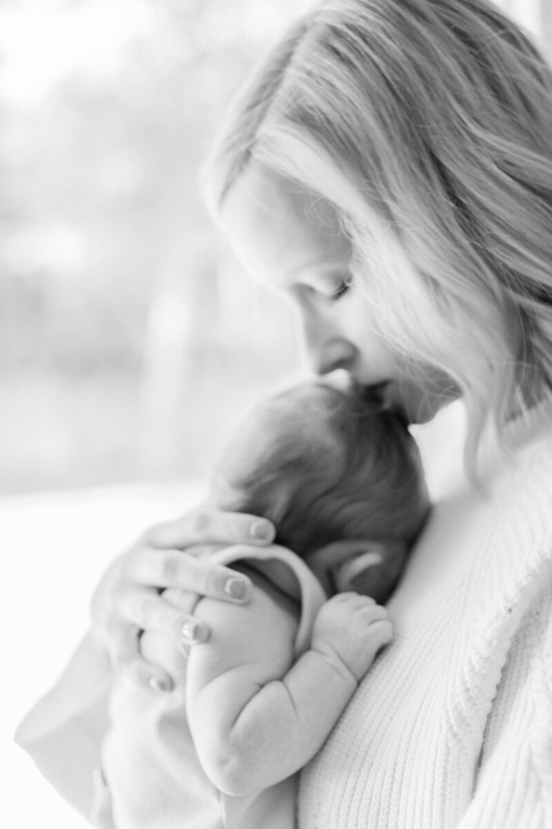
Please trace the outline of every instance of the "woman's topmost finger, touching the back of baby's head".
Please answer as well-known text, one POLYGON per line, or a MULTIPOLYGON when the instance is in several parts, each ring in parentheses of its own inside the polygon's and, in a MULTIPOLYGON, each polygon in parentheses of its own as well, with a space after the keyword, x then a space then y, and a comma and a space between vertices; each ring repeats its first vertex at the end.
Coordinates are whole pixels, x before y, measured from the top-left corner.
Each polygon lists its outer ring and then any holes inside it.
POLYGON ((183 550, 202 542, 264 545, 270 544, 275 535, 274 526, 266 518, 196 507, 175 521, 152 526, 144 541, 161 550, 183 550))

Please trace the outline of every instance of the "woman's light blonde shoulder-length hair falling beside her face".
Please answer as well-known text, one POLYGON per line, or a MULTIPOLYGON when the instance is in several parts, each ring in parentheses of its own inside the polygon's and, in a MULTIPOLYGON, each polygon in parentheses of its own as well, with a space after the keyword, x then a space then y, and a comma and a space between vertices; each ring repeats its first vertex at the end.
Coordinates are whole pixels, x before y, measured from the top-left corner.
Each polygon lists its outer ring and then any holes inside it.
POLYGON ((470 467, 487 421, 550 395, 552 74, 495 7, 322 2, 229 110, 215 213, 252 162, 334 204, 378 332, 463 395, 470 467))

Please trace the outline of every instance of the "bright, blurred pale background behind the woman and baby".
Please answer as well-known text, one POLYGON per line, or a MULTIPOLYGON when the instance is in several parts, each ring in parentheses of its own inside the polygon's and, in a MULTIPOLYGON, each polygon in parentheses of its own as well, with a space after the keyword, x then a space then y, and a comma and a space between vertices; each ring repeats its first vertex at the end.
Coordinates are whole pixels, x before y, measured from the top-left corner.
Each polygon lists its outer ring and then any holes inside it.
MULTIPOLYGON (((314 0, 0 0, 3 826, 81 827, 11 734, 143 526, 300 366, 196 187, 228 99, 314 0)), ((500 3, 549 41, 550 0, 500 3)))

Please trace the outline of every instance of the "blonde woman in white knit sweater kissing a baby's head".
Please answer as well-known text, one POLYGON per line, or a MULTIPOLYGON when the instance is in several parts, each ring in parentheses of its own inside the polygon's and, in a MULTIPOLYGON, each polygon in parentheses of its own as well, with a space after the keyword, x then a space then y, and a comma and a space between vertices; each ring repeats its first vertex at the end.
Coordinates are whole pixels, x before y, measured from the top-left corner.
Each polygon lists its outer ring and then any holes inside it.
MULTIPOLYGON (((551 138, 550 70, 483 0, 334 0, 276 47, 209 160, 223 232, 295 303, 315 371, 412 423, 458 397, 467 412, 467 474, 387 605, 395 641, 303 772, 302 829, 552 822, 551 138)), ((185 553, 272 532, 196 511, 146 533, 98 586, 69 671, 89 688, 110 657, 161 692, 139 631, 208 632, 159 589, 247 601, 246 579, 185 553)), ((70 731, 59 693, 20 733, 39 764, 70 731)), ((99 716, 87 702, 79 722, 99 716)), ((49 771, 83 809, 94 739, 79 797, 49 771)))

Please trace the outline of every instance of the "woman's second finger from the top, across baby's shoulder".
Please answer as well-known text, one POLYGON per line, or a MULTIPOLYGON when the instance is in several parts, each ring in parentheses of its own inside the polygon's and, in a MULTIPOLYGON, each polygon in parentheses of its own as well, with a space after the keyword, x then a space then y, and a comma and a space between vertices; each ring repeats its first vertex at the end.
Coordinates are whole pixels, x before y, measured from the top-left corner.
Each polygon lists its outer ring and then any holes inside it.
POLYGON ((209 559, 196 558, 180 550, 154 550, 142 547, 133 550, 127 567, 132 574, 127 578, 135 584, 155 585, 157 588, 180 587, 201 596, 247 602, 252 584, 247 576, 209 559))

